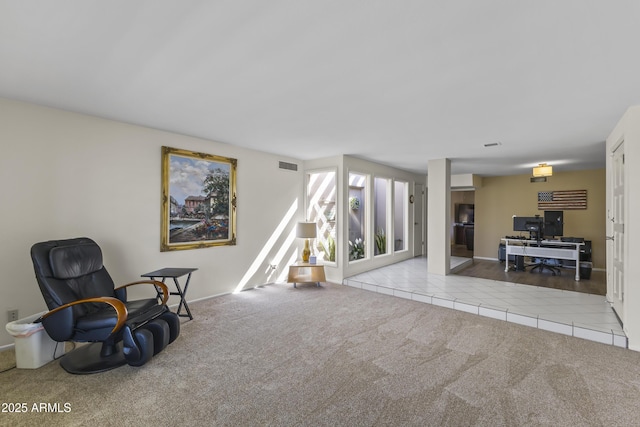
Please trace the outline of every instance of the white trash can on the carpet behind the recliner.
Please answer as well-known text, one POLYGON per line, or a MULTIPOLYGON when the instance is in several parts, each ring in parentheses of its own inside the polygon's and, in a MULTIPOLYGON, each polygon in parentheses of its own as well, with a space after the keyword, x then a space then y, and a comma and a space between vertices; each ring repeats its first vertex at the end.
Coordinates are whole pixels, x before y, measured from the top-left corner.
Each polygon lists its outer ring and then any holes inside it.
POLYGON ((33 323, 44 313, 46 311, 9 322, 5 326, 16 343, 17 368, 36 369, 64 354, 64 343, 52 340, 42 323, 33 323))

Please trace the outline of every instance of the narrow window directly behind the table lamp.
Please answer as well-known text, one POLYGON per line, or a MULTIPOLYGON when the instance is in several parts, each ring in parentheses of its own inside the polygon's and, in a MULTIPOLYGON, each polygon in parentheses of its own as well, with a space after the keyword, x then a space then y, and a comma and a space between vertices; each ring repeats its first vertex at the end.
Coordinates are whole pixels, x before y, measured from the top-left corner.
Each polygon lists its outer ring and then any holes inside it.
POLYGON ((307 174, 307 219, 318 227, 315 251, 325 263, 336 262, 336 172, 307 174))

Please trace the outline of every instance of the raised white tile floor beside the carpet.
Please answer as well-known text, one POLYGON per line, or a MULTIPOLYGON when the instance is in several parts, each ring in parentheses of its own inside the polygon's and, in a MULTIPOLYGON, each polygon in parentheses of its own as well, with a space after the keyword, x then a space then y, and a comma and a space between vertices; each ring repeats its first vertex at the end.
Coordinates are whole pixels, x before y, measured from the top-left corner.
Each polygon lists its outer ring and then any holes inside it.
MULTIPOLYGON (((451 257, 451 268, 468 258, 451 257)), ((427 272, 418 257, 344 279, 343 284, 618 347, 627 337, 604 296, 427 272)))

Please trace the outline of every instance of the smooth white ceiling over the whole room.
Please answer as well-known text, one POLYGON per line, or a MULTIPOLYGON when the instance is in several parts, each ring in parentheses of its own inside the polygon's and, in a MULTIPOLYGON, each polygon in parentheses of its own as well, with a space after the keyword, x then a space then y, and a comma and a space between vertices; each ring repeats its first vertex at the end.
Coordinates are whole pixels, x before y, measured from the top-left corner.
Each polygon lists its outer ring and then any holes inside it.
POLYGON ((0 0, 0 96, 299 159, 591 169, 639 42, 637 0, 0 0))

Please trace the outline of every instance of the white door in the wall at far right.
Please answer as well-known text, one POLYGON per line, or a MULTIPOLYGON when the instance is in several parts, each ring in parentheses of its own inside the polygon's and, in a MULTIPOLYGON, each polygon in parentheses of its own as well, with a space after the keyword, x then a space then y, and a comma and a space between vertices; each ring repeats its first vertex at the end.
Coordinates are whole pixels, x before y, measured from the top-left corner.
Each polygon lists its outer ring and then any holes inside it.
MULTIPOLYGON (((624 142, 612 154, 611 213, 612 235, 607 236, 611 252, 611 281, 613 309, 624 323, 624 142)), ((624 326, 624 325, 623 325, 624 326)))

